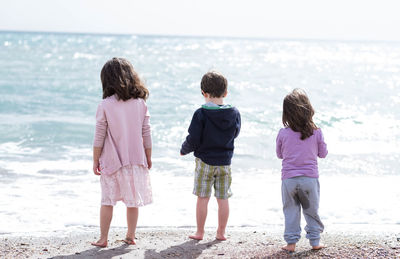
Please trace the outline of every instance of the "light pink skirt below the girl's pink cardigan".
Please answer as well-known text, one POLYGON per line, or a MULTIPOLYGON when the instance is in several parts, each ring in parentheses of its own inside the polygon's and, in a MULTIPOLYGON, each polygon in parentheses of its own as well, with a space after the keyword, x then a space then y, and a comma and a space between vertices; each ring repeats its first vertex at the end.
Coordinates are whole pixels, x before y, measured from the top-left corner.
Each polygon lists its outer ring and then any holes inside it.
POLYGON ((149 170, 144 166, 124 166, 111 175, 101 175, 101 205, 122 201, 127 207, 153 202, 149 170))

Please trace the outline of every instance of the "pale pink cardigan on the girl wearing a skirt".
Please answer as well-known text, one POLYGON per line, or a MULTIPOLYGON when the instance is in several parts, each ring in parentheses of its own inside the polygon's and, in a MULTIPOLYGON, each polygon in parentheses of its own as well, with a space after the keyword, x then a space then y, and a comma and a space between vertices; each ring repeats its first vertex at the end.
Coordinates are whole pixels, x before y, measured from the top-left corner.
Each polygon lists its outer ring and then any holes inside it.
POLYGON ((145 148, 151 148, 150 115, 141 99, 103 99, 97 107, 94 147, 103 147, 100 171, 112 174, 127 165, 147 167, 145 148))

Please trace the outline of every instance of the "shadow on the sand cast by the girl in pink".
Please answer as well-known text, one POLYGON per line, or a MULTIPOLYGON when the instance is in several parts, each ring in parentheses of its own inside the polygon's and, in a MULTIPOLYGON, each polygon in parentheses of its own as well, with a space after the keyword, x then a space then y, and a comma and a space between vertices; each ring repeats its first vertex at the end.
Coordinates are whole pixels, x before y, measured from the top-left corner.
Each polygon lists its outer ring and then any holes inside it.
POLYGON ((131 252, 129 245, 123 244, 119 247, 101 250, 99 247, 93 247, 91 249, 70 254, 70 255, 58 255, 55 257, 50 257, 51 259, 75 259, 75 258, 96 258, 96 259, 108 259, 113 256, 122 256, 131 252))

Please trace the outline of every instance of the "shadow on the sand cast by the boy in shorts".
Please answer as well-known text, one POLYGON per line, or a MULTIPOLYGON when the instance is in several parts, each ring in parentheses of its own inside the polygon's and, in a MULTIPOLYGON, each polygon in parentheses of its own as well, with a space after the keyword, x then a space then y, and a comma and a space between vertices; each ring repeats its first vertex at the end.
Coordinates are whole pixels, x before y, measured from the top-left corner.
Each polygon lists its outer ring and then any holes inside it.
POLYGON ((221 241, 214 240, 208 243, 200 243, 197 240, 190 240, 180 245, 171 246, 160 252, 156 252, 155 249, 146 250, 144 253, 144 258, 197 258, 204 250, 220 242, 221 241))

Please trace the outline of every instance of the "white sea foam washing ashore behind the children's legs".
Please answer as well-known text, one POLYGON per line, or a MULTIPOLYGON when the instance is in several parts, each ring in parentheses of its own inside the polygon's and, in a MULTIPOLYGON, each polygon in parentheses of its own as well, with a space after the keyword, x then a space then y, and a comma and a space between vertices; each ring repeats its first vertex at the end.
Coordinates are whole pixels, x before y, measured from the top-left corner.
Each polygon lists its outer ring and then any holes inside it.
MULTIPOLYGON (((88 161, 73 161, 66 170, 84 170, 87 164, 88 161)), ((27 165, 35 168, 32 170, 39 167, 32 163, 27 165)), ((44 168, 43 163, 40 165, 44 168)), ((59 170, 65 165, 48 163, 45 168, 59 170)), ((165 169, 160 171, 157 167, 155 163, 151 170, 154 203, 140 209, 139 225, 195 226, 193 176, 178 175, 176 171, 171 173, 165 169)), ((322 176, 320 215, 323 222, 326 225, 398 224, 400 208, 393 202, 400 198, 399 181, 400 176, 322 176)), ((277 170, 236 171, 229 225, 283 224, 280 186, 277 170)), ((0 184, 0 196, 0 208, 3 208, 0 211, 0 232, 3 233, 39 233, 98 226, 100 183, 99 177, 89 171, 82 175, 63 173, 52 177, 17 178, 14 182, 0 184)), ((119 203, 112 226, 124 227, 125 221, 125 206, 119 203)), ((210 200, 206 226, 217 226, 214 198, 210 200)))

